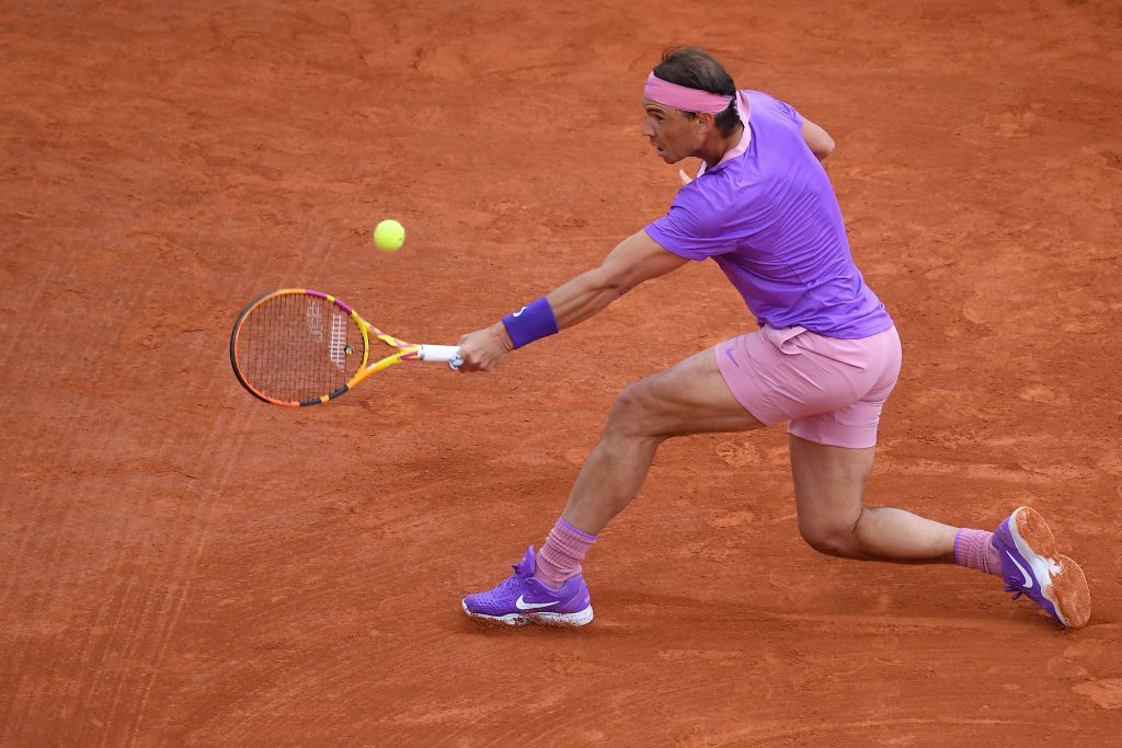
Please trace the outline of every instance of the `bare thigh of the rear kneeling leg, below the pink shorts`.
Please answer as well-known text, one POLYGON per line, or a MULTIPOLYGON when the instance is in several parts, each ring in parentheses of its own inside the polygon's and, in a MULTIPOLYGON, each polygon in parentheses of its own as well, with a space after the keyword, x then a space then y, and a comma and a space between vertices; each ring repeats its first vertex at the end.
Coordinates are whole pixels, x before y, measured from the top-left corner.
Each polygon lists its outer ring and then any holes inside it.
POLYGON ((830 446, 794 435, 788 443, 802 536, 812 541, 853 532, 876 447, 830 446))

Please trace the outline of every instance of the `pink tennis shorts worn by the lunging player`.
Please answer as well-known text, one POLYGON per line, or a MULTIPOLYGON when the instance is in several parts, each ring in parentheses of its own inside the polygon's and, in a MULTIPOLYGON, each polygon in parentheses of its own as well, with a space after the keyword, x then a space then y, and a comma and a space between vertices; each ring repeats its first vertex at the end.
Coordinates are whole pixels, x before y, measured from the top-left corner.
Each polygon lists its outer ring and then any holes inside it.
POLYGON ((733 396, 761 423, 790 421, 790 433, 818 444, 876 444, 881 408, 900 376, 895 327, 840 340, 764 325, 716 350, 733 396))

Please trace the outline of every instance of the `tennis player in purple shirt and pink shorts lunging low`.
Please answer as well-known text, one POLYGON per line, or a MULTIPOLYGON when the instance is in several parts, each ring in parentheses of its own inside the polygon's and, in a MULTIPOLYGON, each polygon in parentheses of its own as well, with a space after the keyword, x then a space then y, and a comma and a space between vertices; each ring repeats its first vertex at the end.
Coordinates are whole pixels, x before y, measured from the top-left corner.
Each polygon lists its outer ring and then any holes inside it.
POLYGON ((1021 507, 993 533, 902 509, 866 507, 881 408, 900 373, 891 316, 854 265, 820 161, 827 132, 790 105, 738 91, 708 53, 666 50, 646 80, 643 136, 668 164, 700 174, 668 213, 604 262, 460 341, 461 371, 495 369, 513 349, 570 327, 651 278, 712 259, 756 317, 747 334, 696 353, 619 394, 596 449, 541 551, 530 546, 496 588, 469 594, 471 617, 509 625, 592 620, 581 562, 638 492, 671 436, 788 422, 799 530, 845 558, 957 563, 995 574, 1060 625, 1091 615, 1083 571, 1045 520, 1021 507))

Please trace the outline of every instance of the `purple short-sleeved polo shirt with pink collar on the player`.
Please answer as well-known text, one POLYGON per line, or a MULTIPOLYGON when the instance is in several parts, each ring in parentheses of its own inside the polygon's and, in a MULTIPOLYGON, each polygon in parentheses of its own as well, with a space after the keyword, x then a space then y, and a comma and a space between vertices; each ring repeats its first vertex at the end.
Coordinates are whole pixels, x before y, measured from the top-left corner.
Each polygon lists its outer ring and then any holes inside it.
POLYGON ((747 116, 739 145, 682 187, 647 234, 680 257, 716 260, 761 325, 842 339, 891 327, 853 262, 802 117, 758 91, 741 91, 738 107, 747 116))

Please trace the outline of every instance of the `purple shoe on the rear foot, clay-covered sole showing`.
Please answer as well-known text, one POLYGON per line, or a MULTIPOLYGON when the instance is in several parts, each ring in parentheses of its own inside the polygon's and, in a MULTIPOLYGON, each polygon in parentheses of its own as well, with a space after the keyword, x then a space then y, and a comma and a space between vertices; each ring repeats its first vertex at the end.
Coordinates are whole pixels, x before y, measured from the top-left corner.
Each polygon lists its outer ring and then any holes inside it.
POLYGON ((993 544, 1001 553, 1005 591, 1032 598, 1067 628, 1079 628, 1091 618, 1091 590, 1079 564, 1056 550, 1043 517, 1021 507, 997 525, 993 544))

